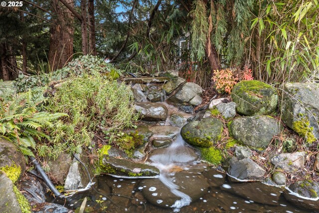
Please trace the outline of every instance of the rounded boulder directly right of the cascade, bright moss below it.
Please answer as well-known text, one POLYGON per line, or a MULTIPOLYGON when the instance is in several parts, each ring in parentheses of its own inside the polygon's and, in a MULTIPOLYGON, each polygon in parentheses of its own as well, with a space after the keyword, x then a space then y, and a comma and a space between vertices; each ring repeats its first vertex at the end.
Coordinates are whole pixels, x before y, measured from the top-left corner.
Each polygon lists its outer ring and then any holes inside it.
POLYGON ((180 134, 190 145, 196 147, 211 147, 221 139, 223 123, 217 118, 204 118, 192 121, 183 126, 180 134))

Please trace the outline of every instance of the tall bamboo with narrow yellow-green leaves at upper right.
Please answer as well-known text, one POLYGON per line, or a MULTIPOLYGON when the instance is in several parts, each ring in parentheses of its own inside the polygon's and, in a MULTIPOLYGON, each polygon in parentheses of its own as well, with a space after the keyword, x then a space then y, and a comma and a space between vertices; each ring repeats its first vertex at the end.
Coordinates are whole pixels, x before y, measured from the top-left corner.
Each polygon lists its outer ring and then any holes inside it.
POLYGON ((259 1, 251 24, 255 76, 266 82, 318 76, 318 10, 317 0, 259 1))

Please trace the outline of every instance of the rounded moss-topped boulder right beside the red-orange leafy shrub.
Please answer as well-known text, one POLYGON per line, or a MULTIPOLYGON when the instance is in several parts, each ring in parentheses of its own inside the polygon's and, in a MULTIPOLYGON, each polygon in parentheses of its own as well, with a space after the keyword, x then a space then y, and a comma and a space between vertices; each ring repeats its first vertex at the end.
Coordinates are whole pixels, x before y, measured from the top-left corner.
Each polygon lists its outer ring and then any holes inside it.
POLYGON ((277 107, 277 89, 261 81, 241 81, 231 92, 239 114, 265 115, 277 107))

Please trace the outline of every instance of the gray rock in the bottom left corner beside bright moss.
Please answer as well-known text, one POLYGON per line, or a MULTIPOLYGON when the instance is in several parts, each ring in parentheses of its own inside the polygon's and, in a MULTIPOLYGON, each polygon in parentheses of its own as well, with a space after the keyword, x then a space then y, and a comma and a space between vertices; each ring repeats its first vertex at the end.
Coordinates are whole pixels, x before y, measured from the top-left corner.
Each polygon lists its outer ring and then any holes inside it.
POLYGON ((19 203, 13 192, 13 184, 5 174, 0 173, 0 210, 3 213, 21 213, 19 203))

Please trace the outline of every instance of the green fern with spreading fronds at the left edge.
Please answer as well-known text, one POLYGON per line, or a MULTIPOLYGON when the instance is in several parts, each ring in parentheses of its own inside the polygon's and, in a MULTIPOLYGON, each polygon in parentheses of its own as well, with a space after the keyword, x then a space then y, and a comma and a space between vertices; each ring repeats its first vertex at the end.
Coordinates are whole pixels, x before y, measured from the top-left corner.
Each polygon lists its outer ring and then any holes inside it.
POLYGON ((43 132, 52 122, 65 116, 64 113, 39 112, 37 107, 45 98, 41 91, 19 93, 0 105, 0 137, 19 146, 22 154, 33 156, 35 139, 49 139, 43 132))

